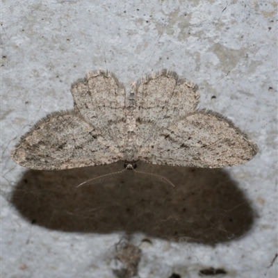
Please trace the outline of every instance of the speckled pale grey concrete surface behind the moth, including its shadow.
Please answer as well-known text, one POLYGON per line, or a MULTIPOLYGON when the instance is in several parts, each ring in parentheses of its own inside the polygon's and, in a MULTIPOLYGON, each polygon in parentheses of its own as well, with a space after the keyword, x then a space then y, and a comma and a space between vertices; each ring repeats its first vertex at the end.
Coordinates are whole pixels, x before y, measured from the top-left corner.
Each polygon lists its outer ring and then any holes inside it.
POLYGON ((122 240, 140 250, 140 278, 276 277, 276 13, 276 1, 2 1, 1 277, 127 277, 122 240), (163 68, 195 81, 199 107, 230 117, 259 154, 224 170, 139 165, 175 188, 133 173, 76 188, 121 163, 16 165, 19 137, 72 108, 71 83, 99 68, 126 88, 163 68))

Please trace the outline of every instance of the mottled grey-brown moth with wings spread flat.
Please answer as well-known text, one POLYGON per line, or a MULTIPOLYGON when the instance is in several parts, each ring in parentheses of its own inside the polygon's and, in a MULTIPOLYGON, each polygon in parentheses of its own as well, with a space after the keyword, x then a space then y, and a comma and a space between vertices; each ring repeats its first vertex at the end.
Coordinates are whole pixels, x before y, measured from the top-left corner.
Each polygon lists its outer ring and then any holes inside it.
POLYGON ((231 120, 197 109, 195 83, 163 70, 129 92, 111 72, 89 72, 72 84, 74 109, 39 120, 13 148, 13 160, 36 170, 123 161, 184 167, 227 167, 250 161, 256 144, 231 120))

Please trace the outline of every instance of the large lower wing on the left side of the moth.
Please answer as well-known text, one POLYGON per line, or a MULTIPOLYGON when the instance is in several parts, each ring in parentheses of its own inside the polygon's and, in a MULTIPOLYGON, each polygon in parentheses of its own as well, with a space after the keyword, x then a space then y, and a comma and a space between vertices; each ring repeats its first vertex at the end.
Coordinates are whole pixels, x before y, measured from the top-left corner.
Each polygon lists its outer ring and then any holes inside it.
POLYGON ((122 154, 74 111, 40 120, 11 152, 15 162, 36 170, 62 170, 115 163, 122 154))

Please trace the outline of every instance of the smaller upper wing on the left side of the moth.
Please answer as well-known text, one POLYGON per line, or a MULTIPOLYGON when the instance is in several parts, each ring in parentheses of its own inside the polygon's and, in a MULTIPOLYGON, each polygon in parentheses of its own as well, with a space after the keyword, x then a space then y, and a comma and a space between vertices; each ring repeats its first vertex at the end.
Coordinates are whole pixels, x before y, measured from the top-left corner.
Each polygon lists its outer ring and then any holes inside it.
POLYGON ((89 72, 72 84, 74 110, 95 127, 111 148, 122 152, 125 130, 125 88, 111 72, 89 72))

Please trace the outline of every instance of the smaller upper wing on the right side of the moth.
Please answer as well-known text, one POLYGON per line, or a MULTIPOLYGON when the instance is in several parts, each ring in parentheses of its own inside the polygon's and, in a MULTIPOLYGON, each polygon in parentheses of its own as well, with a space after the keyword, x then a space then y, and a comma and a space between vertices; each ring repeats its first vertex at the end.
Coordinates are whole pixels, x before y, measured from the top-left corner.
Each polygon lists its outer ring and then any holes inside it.
POLYGON ((193 113, 198 99, 195 83, 179 80, 176 73, 167 70, 145 76, 138 82, 135 115, 139 156, 161 131, 193 113))

